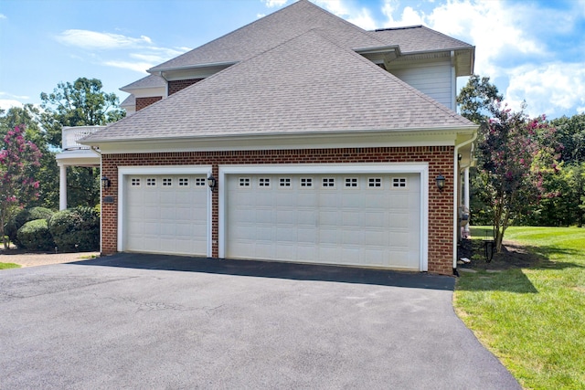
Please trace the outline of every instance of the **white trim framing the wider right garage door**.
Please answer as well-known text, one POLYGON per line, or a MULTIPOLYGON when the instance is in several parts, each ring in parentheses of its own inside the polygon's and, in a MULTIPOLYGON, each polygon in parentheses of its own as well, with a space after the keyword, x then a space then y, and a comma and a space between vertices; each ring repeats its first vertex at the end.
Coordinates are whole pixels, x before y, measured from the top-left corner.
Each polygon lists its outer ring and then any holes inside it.
MULTIPOLYGON (((282 165, 219 165, 219 183, 228 183, 228 174, 420 174, 420 271, 429 269, 429 164, 282 164, 282 165)), ((226 255, 227 195, 226 185, 219 186, 218 250, 219 258, 226 255)))

